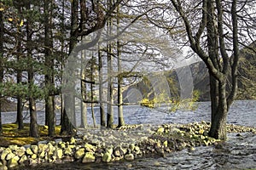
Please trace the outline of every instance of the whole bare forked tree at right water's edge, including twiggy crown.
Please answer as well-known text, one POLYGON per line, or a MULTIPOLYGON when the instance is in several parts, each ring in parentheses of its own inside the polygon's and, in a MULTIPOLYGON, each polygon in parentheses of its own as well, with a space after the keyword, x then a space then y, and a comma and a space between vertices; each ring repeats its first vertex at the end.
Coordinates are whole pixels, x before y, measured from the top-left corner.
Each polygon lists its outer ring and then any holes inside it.
MULTIPOLYGON (((177 20, 182 20, 181 26, 185 27, 183 32, 187 35, 186 40, 190 48, 205 62, 209 71, 212 107, 209 136, 226 139, 226 118, 237 93, 239 47, 243 44, 241 40, 245 38, 239 32, 242 32, 243 26, 247 26, 245 31, 247 35, 254 29, 249 20, 239 23, 239 18, 247 15, 247 19, 252 20, 252 15, 244 13, 245 7, 252 1, 203 0, 190 3, 172 0, 171 2, 177 11, 175 13, 177 18, 173 21, 177 23, 177 20), (199 6, 201 8, 196 8, 199 6), (230 51, 231 55, 229 55, 230 51), (227 90, 229 75, 230 91, 227 90)), ((174 31, 175 28, 178 26, 172 27, 174 31)), ((172 29, 170 31, 173 31, 172 29)))

